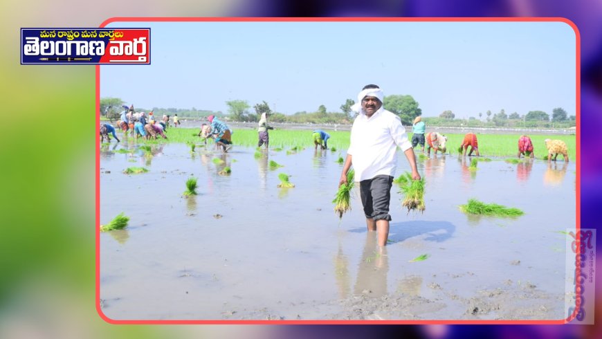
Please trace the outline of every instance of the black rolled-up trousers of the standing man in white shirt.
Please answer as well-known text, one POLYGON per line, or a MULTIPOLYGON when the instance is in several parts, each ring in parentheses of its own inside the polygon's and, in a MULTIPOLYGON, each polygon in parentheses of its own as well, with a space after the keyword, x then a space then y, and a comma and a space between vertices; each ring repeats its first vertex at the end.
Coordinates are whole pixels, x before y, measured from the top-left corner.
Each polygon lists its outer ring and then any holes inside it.
POLYGON ((393 177, 387 175, 374 176, 372 179, 360 181, 360 196, 366 218, 391 220, 389 202, 392 184, 393 177))

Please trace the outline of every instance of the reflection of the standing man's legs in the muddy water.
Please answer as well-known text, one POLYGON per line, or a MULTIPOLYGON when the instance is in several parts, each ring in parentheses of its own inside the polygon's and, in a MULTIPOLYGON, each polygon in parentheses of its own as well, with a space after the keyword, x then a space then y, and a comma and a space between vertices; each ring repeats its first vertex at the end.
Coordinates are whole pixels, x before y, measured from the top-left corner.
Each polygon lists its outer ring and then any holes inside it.
POLYGON ((354 294, 364 294, 370 297, 385 295, 387 293, 387 271, 389 271, 387 247, 376 244, 376 232, 366 232, 354 294))

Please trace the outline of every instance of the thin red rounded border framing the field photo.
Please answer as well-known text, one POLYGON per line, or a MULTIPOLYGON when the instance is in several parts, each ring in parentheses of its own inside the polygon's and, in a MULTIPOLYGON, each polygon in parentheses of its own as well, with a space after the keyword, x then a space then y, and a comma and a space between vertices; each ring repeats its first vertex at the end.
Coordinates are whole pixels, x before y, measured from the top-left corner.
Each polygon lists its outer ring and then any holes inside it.
MULTIPOLYGON (((163 21, 163 22, 564 22, 575 32, 576 45, 576 232, 581 230, 581 35, 573 21, 563 17, 113 17, 99 28, 116 21, 163 21)), ((100 110, 100 65, 95 66, 96 112, 100 110)), ((100 128, 100 116, 96 114, 96 130, 100 128)), ((565 324, 572 320, 578 309, 560 320, 114 320, 104 315, 100 308, 100 140, 96 138, 96 297, 98 315, 109 324, 565 324)), ((580 248, 580 239, 576 246, 580 248)), ((576 273, 581 273, 579 266, 576 273)))

